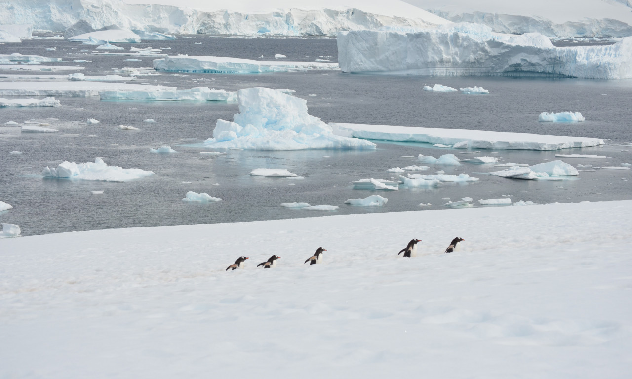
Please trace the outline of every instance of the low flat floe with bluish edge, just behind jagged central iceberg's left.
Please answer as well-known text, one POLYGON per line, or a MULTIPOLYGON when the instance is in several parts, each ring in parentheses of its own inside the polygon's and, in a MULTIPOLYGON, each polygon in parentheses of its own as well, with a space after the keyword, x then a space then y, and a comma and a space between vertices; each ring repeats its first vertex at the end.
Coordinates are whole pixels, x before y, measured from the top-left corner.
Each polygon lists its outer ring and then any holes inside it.
POLYGON ((215 88, 196 87, 189 90, 104 90, 102 100, 153 100, 153 101, 237 101, 237 92, 215 88))

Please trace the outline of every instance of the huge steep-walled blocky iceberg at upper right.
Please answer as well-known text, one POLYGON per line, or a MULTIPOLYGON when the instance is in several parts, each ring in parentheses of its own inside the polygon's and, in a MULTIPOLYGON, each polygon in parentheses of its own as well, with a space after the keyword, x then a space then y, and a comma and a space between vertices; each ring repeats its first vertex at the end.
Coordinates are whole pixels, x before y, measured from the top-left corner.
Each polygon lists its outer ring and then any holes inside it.
POLYGON ((540 33, 493 33, 481 24, 355 30, 337 37, 344 72, 632 78, 632 37, 613 45, 554 47, 540 33))

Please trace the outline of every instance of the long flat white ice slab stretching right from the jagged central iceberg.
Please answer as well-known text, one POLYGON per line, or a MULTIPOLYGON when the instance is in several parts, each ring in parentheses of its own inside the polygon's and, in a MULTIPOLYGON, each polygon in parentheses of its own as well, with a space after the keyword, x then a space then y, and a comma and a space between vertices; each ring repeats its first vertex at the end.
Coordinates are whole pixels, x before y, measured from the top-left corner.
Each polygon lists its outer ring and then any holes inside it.
POLYGON ((387 141, 414 141, 454 145, 454 148, 507 148, 526 150, 558 150, 570 147, 603 145, 601 138, 506 133, 472 129, 416 128, 366 124, 330 123, 341 136, 387 141))

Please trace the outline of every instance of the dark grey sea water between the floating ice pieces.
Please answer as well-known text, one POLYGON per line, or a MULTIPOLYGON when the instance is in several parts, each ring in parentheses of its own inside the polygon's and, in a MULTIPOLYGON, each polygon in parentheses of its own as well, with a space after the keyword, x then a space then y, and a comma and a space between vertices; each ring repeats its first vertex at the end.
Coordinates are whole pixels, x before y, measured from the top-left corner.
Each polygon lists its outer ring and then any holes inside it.
MULTIPOLYGON (((233 56, 274 60, 284 54, 288 61, 313 61, 321 56, 337 59, 336 40, 315 39, 226 39, 194 35, 193 39, 150 41, 135 47, 171 47, 167 54, 233 56), (202 43, 195 44, 196 42, 202 43), (264 56, 264 58, 260 58, 264 56)), ((121 44, 129 50, 130 45, 121 44)), ((20 52, 63 57, 58 65, 85 66, 86 75, 107 75, 123 67, 151 67, 150 57, 142 62, 126 62, 130 57, 71 55, 92 49, 64 40, 27 40, 22 44, 0 45, 0 54, 20 52), (57 47, 57 51, 46 51, 57 47), (77 50, 72 50, 77 49, 77 50), (72 63, 87 59, 92 63, 72 63)), ((61 71, 69 73, 73 71, 61 71)), ((27 73, 6 71, 0 73, 27 73)), ((31 72, 28 72, 31 73, 31 72)), ((32 73, 37 73, 33 71, 32 73)), ((126 76, 125 73, 120 75, 126 76)), ((11 81, 3 79, 4 81, 11 81)), ((550 78, 427 77, 398 75, 358 75, 340 71, 221 75, 161 73, 138 76, 131 83, 169 85, 181 89, 211 87, 238 90, 248 87, 290 88, 308 100, 310 114, 325 122, 425 126, 453 129, 480 129, 525 133, 598 137, 606 145, 557 151, 440 149, 423 143, 375 141, 375 150, 228 150, 226 155, 205 157, 205 149, 184 145, 212 135, 217 119, 232 120, 236 103, 106 101, 86 97, 60 97, 61 107, 0 108, 0 200, 13 209, 0 212, 0 221, 20 225, 25 236, 55 232, 116 227, 162 226, 213 222, 314 217, 330 214, 396 212, 440 209, 468 196, 478 199, 503 195, 535 203, 623 200, 632 198, 631 171, 598 170, 580 172, 565 181, 520 181, 490 176, 493 165, 463 164, 459 167, 432 166, 432 174, 465 172, 479 177, 469 184, 445 183, 438 188, 402 188, 397 192, 353 189, 349 184, 365 177, 391 178, 391 167, 419 165, 418 154, 438 157, 454 153, 458 157, 489 155, 501 163, 538 164, 556 159, 556 153, 605 155, 609 159, 566 159, 566 162, 595 166, 632 163, 632 81, 598 81, 550 78), (440 83, 455 88, 479 86, 490 95, 432 93, 423 85, 440 83), (316 97, 309 97, 316 94, 316 97), (580 111, 586 121, 577 124, 538 123, 542 111, 580 111), (85 120, 95 118, 97 125, 85 120), (144 119, 156 123, 146 124, 144 119), (50 123, 59 133, 21 133, 5 128, 7 121, 30 119, 50 123), (58 120, 47 120, 58 119, 58 120), (122 131, 119 124, 140 131, 122 131), (179 153, 156 155, 151 147, 169 145, 179 153), (23 155, 9 155, 12 150, 23 155), (47 179, 40 174, 46 166, 64 160, 94 162, 101 157, 109 165, 140 168, 155 176, 128 183, 106 183, 47 179), (303 180, 253 177, 256 168, 283 168, 305 176, 303 180), (183 181, 191 181, 186 184, 183 181), (219 185, 215 185, 219 183, 219 185), (295 185, 288 185, 295 183, 295 185), (91 191, 104 191, 92 195, 91 191), (206 192, 222 199, 209 204, 182 202, 187 191, 206 192), (381 195, 384 207, 351 207, 350 198, 381 195), (285 202, 337 205, 335 212, 292 210, 285 202), (419 207, 420 203, 432 203, 419 207)), ((206 149, 208 150, 208 149, 206 149)))

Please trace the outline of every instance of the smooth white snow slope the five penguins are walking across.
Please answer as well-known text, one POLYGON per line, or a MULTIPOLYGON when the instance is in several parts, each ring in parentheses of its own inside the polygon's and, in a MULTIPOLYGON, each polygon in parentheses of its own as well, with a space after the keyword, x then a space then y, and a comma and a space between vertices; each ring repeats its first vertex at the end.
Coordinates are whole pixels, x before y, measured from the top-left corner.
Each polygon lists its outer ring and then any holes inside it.
POLYGON ((628 378, 631 231, 623 201, 4 239, 0 377, 628 378))

